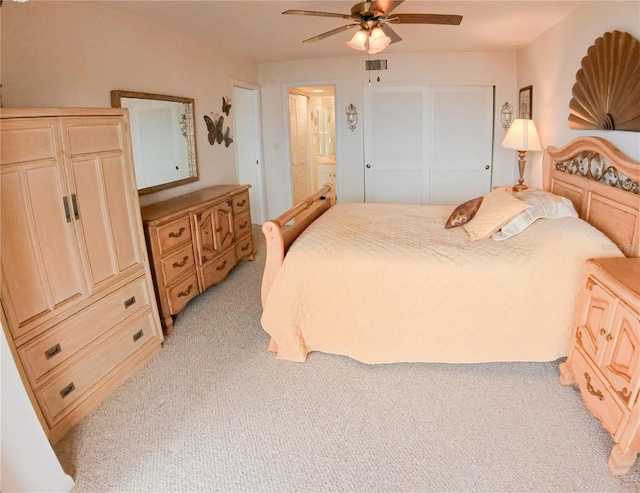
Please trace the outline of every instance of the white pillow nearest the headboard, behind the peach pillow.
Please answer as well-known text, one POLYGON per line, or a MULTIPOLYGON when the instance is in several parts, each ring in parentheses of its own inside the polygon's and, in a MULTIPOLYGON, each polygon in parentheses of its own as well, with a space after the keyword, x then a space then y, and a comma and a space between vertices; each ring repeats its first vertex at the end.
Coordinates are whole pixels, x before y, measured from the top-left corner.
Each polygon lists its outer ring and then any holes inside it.
POLYGON ((525 209, 502 229, 496 232, 492 238, 496 241, 506 240, 522 233, 540 218, 556 219, 559 217, 578 217, 573 203, 565 198, 544 190, 524 190, 515 194, 515 197, 524 200, 531 207, 525 209))

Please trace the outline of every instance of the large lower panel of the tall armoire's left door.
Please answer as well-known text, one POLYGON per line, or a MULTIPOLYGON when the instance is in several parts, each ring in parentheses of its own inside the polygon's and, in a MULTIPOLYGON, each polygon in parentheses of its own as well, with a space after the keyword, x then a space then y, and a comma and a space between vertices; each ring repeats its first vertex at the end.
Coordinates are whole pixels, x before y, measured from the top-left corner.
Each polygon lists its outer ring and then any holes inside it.
POLYGON ((0 183, 2 299, 17 337, 83 300, 85 289, 58 163, 3 163, 0 183))

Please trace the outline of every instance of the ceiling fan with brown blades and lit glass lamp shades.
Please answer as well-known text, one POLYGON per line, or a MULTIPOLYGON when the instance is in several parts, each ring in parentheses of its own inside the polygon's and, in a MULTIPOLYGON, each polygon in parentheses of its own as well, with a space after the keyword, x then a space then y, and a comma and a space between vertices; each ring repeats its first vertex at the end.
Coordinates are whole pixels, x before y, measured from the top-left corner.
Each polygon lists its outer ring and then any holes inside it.
POLYGON ((457 26, 462 22, 461 15, 452 14, 392 14, 404 0, 376 0, 373 2, 360 2, 351 8, 351 14, 338 14, 333 12, 318 12, 314 10, 286 10, 285 15, 309 15, 317 17, 337 17, 351 21, 351 24, 332 29, 312 38, 305 39, 303 43, 312 43, 328 38, 334 34, 359 27, 358 32, 347 42, 347 45, 357 50, 366 50, 369 44, 369 53, 379 53, 390 43, 402 41, 402 38, 391 29, 389 24, 444 24, 457 26))

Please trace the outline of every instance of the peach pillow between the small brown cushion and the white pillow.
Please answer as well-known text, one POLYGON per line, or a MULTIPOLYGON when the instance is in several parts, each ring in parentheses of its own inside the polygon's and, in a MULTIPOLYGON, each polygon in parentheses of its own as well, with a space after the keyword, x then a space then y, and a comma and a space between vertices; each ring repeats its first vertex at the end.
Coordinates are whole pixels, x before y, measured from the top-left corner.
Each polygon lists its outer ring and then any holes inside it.
POLYGON ((489 238, 527 207, 530 205, 524 200, 497 188, 484 197, 475 217, 462 227, 467 230, 471 241, 489 238))

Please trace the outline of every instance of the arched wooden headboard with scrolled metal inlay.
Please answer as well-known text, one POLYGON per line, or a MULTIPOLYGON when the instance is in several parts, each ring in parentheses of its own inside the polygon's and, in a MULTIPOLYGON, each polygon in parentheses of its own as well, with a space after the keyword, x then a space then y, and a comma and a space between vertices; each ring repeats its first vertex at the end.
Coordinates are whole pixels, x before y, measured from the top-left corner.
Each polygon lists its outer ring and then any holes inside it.
POLYGON ((640 162, 605 139, 579 137, 547 147, 542 173, 545 190, 570 199, 627 257, 640 257, 640 162))

